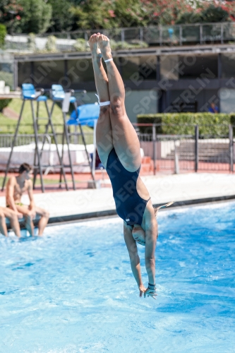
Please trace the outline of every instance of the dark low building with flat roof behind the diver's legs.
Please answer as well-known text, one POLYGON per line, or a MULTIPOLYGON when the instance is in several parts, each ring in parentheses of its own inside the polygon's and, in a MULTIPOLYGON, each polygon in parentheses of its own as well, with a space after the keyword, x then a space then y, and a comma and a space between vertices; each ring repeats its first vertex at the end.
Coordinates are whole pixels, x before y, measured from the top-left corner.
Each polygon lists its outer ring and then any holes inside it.
MULTIPOLYGON (((137 114, 235 112, 235 45, 197 44, 113 52, 126 88, 126 110, 137 114)), ((32 83, 49 90, 86 90, 84 102, 96 102, 90 52, 15 55, 15 87, 32 83)))

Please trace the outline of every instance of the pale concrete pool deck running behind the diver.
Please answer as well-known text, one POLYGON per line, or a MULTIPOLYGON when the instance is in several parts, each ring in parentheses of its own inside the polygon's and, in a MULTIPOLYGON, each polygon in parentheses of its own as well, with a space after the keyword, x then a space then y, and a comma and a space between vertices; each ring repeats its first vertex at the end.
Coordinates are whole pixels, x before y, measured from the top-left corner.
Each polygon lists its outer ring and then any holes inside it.
MULTIPOLYGON (((176 206, 235 200, 234 174, 177 174, 142 177, 152 203, 175 201, 176 206)), ((50 213, 49 223, 116 215, 112 188, 35 193, 35 203, 50 213)), ((23 196, 27 204, 28 196, 23 196)), ((0 197, 5 206, 5 197, 0 197)))

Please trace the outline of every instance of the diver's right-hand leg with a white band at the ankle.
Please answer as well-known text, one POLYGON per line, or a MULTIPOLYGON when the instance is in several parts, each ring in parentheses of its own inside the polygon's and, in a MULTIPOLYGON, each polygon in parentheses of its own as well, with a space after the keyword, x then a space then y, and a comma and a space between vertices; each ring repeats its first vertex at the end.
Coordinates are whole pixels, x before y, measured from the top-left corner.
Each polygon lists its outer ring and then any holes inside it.
MULTIPOLYGON (((104 60, 111 59, 112 53, 109 38, 99 35, 99 47, 104 60)), ((112 125, 112 138, 116 154, 123 166, 130 172, 140 167, 140 142, 137 133, 126 115, 125 88, 121 75, 114 61, 107 63, 110 106, 110 121, 112 125)))

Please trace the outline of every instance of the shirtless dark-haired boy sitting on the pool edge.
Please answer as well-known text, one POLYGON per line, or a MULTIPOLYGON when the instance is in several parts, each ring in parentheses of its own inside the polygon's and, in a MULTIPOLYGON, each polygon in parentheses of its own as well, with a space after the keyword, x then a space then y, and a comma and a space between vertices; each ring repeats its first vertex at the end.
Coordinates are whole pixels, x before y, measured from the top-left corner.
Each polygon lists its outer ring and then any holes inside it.
POLYGON ((32 181, 30 177, 32 175, 32 169, 28 163, 20 165, 19 174, 17 177, 11 177, 6 184, 6 207, 11 208, 16 213, 22 213, 25 217, 25 227, 30 232, 30 235, 34 234, 34 225, 32 220, 36 215, 40 215, 40 221, 38 222, 38 235, 42 236, 45 227, 49 220, 49 213, 42 208, 35 206, 32 193, 32 181), (28 191, 30 198, 30 205, 23 205, 21 203, 21 196, 25 191, 28 191))

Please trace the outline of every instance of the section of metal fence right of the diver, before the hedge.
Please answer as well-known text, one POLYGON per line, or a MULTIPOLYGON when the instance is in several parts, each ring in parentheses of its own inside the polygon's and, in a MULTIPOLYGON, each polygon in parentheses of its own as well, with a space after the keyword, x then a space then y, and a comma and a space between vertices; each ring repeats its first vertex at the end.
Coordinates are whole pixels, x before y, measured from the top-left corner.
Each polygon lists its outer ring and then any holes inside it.
MULTIPOLYGON (((159 124, 152 125, 152 133, 138 133, 149 172, 234 171, 234 126, 227 126, 224 136, 158 134, 159 124)), ((145 164, 145 161, 144 161, 145 164)))

